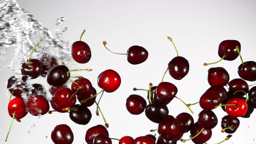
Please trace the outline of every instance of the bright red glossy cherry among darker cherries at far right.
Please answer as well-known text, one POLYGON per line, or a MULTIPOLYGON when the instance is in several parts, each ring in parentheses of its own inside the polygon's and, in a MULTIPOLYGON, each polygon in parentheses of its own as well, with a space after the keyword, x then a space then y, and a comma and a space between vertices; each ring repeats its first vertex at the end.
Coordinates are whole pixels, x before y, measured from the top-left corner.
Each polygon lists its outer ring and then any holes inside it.
POLYGON ((226 102, 225 110, 231 117, 243 117, 248 109, 247 102, 241 98, 232 98, 226 102), (229 105, 234 104, 234 105, 229 105))

